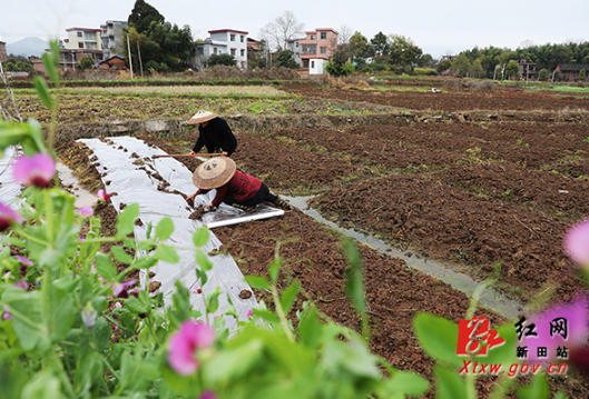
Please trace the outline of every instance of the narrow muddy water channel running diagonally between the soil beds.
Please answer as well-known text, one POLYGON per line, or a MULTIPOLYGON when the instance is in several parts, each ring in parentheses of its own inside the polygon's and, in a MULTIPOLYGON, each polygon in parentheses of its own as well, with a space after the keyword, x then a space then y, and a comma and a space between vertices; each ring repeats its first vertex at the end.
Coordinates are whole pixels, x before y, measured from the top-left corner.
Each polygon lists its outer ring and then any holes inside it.
MULTIPOLYGON (((399 257, 403 259, 410 268, 422 271, 452 286, 453 289, 464 292, 469 298, 473 295, 477 287, 480 286, 480 282, 473 280, 470 276, 459 273, 452 270, 449 266, 432 262, 428 259, 409 257, 408 255, 391 247, 385 241, 373 237, 372 235, 362 233, 355 231, 354 229, 342 228, 333 221, 325 219, 323 216, 321 216, 318 211, 308 207, 307 205, 307 201, 313 199, 315 196, 288 197, 281 194, 281 197, 288 200, 288 202, 291 202, 293 207, 298 208, 301 211, 305 212, 306 215, 322 222, 323 225, 330 227, 331 229, 334 229, 346 237, 353 238, 360 243, 370 246, 379 253, 384 253, 393 258, 399 257)), ((482 291, 479 298, 479 303, 484 308, 493 310, 497 313, 509 319, 518 318, 518 315, 526 310, 524 306, 519 301, 509 299, 501 292, 498 292, 491 288, 487 288, 482 291)))

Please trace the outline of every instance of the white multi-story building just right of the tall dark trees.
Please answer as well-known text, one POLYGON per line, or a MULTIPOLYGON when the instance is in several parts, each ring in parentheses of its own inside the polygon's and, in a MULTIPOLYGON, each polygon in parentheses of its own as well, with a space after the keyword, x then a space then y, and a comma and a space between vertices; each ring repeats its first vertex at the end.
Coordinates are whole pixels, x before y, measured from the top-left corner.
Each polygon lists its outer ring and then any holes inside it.
POLYGON ((213 54, 232 54, 237 67, 247 68, 247 32, 233 29, 209 30, 210 37, 196 43, 196 53, 192 60, 193 67, 206 67, 206 61, 213 54))

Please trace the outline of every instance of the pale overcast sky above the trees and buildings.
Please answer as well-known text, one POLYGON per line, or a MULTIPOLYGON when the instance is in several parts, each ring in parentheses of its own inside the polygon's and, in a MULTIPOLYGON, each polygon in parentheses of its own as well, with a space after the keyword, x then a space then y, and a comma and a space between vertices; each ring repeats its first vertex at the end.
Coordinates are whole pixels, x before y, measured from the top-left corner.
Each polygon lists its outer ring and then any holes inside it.
MULTIPOLYGON (((589 40, 589 0, 147 0, 166 19, 190 26, 195 39, 209 30, 236 29, 259 38, 259 30, 293 11, 305 30, 347 26, 369 40, 379 31, 413 39, 434 58, 474 46, 517 49, 526 44, 589 40)), ((67 38, 68 28, 99 28, 127 20, 135 0, 0 0, 0 40, 67 38)))

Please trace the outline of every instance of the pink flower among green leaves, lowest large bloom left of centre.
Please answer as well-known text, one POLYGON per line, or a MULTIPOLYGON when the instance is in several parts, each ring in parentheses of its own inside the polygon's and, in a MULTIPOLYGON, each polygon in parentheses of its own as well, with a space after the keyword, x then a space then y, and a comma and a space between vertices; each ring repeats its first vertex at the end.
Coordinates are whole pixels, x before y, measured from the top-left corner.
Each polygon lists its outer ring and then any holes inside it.
POLYGON ((169 340, 169 366, 179 375, 192 375, 198 368, 196 350, 208 348, 214 341, 215 331, 210 327, 195 321, 185 321, 169 340))

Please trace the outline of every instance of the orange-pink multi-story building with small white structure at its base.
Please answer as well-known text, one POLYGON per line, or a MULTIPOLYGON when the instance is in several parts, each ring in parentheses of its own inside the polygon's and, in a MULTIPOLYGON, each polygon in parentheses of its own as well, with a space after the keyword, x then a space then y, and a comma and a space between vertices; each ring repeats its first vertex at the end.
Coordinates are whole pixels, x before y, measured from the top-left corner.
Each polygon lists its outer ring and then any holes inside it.
POLYGON ((305 39, 298 39, 301 62, 308 68, 310 74, 322 74, 323 67, 337 49, 337 31, 332 28, 316 28, 305 32, 305 39))

